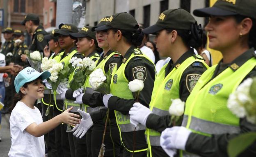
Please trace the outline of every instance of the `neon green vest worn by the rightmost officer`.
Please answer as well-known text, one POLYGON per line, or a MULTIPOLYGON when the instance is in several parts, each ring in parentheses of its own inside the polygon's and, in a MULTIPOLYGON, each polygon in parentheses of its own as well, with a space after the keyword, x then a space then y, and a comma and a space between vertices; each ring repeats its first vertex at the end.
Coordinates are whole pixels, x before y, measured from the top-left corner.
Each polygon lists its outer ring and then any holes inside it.
MULTIPOLYGON (((194 133, 206 136, 239 133, 239 118, 227 108, 227 100, 248 73, 254 69, 256 58, 251 58, 235 71, 228 67, 213 80, 210 80, 216 66, 203 73, 187 98, 182 126, 189 128, 194 133)), ((184 157, 199 157, 184 151, 181 151, 180 156, 182 155, 184 157)))

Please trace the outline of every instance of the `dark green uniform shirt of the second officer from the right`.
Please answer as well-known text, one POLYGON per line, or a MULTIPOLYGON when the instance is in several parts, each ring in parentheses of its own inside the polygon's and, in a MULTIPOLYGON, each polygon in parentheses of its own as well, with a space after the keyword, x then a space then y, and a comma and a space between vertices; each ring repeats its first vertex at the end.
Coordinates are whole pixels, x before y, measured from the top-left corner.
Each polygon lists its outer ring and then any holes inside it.
MULTIPOLYGON (((181 64, 184 62, 188 57, 191 57, 195 55, 193 49, 190 49, 189 51, 185 52, 174 64, 172 60, 169 61, 168 65, 165 68, 165 77, 172 71, 172 69, 176 68, 176 65, 181 64)), ((191 86, 189 80, 192 75, 202 75, 204 71, 206 71, 207 68, 201 63, 201 62, 194 62, 190 66, 187 67, 187 69, 183 72, 181 75, 181 81, 180 81, 180 88, 179 88, 179 95, 181 101, 185 102, 187 100, 187 97, 190 95, 190 92, 192 91, 192 88, 194 86, 191 86)), ((199 77, 195 77, 199 78, 199 77)), ((182 119, 182 118, 181 118, 182 119)), ((165 130, 167 127, 169 127, 169 123, 171 120, 170 115, 166 116, 159 116, 155 114, 150 114, 149 117, 146 120, 146 127, 159 131, 160 133, 165 130)))

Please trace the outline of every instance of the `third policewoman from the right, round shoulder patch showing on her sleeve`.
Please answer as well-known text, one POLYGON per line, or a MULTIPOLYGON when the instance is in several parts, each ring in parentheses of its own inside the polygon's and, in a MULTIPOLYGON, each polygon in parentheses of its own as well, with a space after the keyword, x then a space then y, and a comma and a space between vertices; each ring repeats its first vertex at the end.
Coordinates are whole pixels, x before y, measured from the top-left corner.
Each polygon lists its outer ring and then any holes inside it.
POLYGON ((144 34, 135 18, 129 13, 115 13, 109 22, 98 27, 96 31, 107 31, 107 41, 112 51, 121 53, 122 58, 114 67, 110 84, 112 94, 94 93, 85 104, 93 104, 115 110, 121 142, 124 146, 123 156, 146 156, 147 145, 144 136, 145 127, 130 124, 128 112, 135 103, 135 94, 128 89, 128 83, 134 79, 142 80, 144 88, 139 94, 139 102, 149 106, 153 81, 155 79, 154 64, 136 47, 141 44, 144 34), (92 100, 98 102, 91 103, 92 100), (133 140, 135 138, 135 140, 133 140))

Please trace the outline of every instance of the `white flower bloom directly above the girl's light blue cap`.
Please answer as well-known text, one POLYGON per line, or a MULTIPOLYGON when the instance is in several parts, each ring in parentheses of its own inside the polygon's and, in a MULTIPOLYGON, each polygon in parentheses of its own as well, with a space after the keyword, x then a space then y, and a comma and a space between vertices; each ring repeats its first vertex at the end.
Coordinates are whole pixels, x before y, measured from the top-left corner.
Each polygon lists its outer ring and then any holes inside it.
POLYGON ((41 54, 39 51, 34 51, 27 56, 29 64, 37 71, 40 71, 42 56, 43 54, 41 54))

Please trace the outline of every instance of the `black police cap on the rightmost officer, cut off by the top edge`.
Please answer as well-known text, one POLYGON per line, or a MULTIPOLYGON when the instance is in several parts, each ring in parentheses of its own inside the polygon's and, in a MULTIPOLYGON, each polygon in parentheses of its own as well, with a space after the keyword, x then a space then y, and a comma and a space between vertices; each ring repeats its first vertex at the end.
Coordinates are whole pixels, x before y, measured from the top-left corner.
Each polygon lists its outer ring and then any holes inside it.
POLYGON ((213 7, 195 9, 199 17, 244 15, 256 19, 256 0, 217 0, 213 7))

